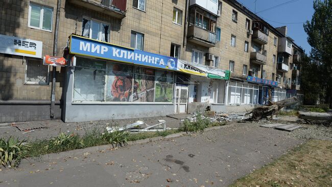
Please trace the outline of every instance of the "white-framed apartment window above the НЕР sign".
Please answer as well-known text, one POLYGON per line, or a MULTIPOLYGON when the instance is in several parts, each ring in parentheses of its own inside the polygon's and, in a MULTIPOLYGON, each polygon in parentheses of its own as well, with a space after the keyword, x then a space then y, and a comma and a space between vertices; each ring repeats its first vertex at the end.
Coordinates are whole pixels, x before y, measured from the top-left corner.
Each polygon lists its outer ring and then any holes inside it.
POLYGON ((52 32, 53 8, 36 5, 30 2, 28 22, 31 28, 52 32))

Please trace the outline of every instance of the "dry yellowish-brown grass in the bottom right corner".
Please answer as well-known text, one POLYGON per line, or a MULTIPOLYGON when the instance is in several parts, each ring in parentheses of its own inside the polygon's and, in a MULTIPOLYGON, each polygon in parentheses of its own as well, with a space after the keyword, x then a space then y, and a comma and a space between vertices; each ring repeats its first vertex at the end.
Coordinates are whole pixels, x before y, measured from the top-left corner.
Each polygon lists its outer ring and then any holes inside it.
POLYGON ((310 140, 230 186, 332 186, 332 142, 310 140))

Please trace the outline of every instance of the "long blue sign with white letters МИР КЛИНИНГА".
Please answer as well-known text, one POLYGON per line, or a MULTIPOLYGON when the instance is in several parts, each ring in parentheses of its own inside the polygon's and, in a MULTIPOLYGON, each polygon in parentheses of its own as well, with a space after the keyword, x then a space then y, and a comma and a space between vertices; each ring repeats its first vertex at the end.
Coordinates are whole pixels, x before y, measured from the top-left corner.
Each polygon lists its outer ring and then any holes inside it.
POLYGON ((153 68, 177 70, 177 58, 116 46, 75 35, 70 36, 69 52, 153 68))

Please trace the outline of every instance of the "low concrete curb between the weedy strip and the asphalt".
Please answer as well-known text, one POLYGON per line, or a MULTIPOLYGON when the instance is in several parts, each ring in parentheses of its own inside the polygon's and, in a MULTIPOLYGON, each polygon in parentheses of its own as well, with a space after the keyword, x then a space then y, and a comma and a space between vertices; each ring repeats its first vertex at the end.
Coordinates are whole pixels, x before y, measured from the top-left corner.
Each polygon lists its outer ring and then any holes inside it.
MULTIPOLYGON (((211 131, 211 130, 222 129, 222 128, 226 128, 226 127, 230 127, 230 126, 232 126, 232 124, 224 125, 224 126, 217 126, 217 127, 210 127, 210 128, 204 129, 204 132, 211 131)), ((158 137, 154 137, 154 138, 147 138, 147 139, 141 139, 141 140, 136 140, 136 141, 129 141, 128 145, 149 143, 149 142, 154 142, 154 141, 158 141, 158 140, 177 138, 177 137, 180 137, 180 136, 186 136, 186 135, 191 135, 191 134, 195 134, 195 133, 182 132, 182 133, 171 134, 171 135, 168 135, 168 136, 165 136, 165 137, 158 136, 158 137)), ((69 150, 69 151, 64 151, 64 152, 59 152, 59 153, 44 154, 44 155, 41 155, 40 157, 37 157, 37 158, 36 157, 30 157, 30 158, 24 159, 24 160, 21 161, 21 164, 26 164, 26 163, 30 164, 31 162, 36 161, 36 160, 44 161, 44 160, 61 159, 61 158, 64 158, 64 157, 74 157, 74 156, 78 156, 78 155, 83 155, 85 152, 101 151, 101 150, 110 149, 110 148, 113 148, 112 144, 86 147, 86 148, 83 148, 83 149, 75 149, 75 150, 69 150)))

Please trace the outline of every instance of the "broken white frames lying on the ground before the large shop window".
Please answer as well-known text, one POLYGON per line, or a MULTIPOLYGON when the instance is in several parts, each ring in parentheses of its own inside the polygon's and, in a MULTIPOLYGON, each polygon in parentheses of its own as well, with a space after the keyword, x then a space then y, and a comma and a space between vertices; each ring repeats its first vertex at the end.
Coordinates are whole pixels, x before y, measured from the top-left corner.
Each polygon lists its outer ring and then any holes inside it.
POLYGON ((106 127, 106 130, 109 133, 114 131, 129 131, 132 133, 138 132, 154 132, 154 131, 165 131, 171 130, 171 128, 166 128, 166 121, 163 119, 158 120, 159 123, 154 124, 153 126, 149 126, 142 120, 135 121, 134 123, 128 124, 125 127, 118 128, 118 127, 106 127))

